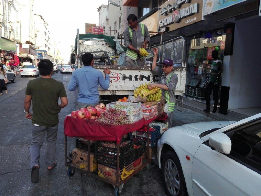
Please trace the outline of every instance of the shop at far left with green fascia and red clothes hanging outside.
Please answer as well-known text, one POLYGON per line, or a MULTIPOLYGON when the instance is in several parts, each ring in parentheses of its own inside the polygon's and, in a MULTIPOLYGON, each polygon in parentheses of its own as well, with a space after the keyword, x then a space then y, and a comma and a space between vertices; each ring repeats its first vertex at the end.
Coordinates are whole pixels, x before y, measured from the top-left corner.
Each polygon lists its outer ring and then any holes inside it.
POLYGON ((13 70, 19 64, 15 42, 4 37, 0 38, 0 63, 13 70))

